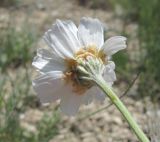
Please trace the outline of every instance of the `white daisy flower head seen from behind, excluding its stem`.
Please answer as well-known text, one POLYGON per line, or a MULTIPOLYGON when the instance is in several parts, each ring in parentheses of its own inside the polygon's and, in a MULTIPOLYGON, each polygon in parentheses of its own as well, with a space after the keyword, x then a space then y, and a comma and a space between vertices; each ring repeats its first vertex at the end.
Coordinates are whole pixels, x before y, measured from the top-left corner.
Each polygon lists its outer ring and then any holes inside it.
POLYGON ((40 101, 60 100, 60 108, 67 115, 74 115, 81 104, 104 101, 105 94, 90 80, 87 68, 93 71, 89 64, 95 59, 98 73, 112 85, 115 64, 108 57, 126 48, 126 38, 114 36, 104 43, 102 23, 84 17, 78 28, 72 21, 57 20, 44 40, 50 50, 39 49, 32 63, 41 74, 33 81, 40 101))

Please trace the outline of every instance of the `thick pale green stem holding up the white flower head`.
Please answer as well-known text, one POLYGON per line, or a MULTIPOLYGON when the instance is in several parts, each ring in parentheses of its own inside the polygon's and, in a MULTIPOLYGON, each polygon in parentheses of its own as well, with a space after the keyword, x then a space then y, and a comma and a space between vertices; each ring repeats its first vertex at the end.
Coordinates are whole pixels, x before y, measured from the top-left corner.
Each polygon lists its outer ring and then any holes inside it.
POLYGON ((102 76, 95 77, 96 84, 103 90, 103 92, 110 98, 112 103, 117 107, 117 109, 121 112, 123 117, 128 122, 129 126, 133 129, 134 133, 136 134, 137 138, 140 142, 149 142, 149 139, 144 134, 144 132, 140 129, 136 121, 131 116, 128 109, 125 105, 121 102, 121 100, 117 97, 117 95, 112 91, 112 89, 106 84, 105 80, 102 76))

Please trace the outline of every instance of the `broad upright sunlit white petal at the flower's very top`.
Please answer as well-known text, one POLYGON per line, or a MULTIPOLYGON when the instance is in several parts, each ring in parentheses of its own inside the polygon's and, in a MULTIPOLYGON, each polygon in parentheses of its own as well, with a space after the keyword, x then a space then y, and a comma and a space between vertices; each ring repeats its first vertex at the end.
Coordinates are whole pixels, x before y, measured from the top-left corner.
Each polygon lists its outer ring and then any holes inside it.
POLYGON ((102 23, 98 19, 82 18, 78 27, 78 37, 83 46, 96 45, 100 49, 104 44, 102 23))

